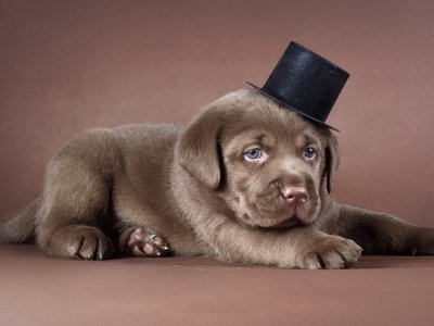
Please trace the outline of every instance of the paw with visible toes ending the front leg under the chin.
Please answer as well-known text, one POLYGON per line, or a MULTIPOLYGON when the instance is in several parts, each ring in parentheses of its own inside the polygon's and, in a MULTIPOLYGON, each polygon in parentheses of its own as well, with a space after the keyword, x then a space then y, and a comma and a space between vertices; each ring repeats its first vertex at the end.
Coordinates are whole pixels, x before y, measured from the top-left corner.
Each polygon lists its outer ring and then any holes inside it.
POLYGON ((302 259, 302 268, 336 269, 347 268, 357 263, 361 247, 349 239, 339 236, 323 236, 314 248, 307 250, 302 259))

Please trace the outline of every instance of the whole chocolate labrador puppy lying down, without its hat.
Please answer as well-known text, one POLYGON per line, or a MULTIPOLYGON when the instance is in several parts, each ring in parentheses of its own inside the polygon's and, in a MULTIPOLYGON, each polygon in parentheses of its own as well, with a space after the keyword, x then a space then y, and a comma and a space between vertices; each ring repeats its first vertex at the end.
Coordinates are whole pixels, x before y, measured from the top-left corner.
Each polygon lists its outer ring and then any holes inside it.
POLYGON ((342 205, 330 129, 258 90, 229 93, 187 126, 89 130, 47 168, 43 190, 0 226, 49 255, 208 255, 343 268, 371 254, 433 254, 434 230, 342 205))

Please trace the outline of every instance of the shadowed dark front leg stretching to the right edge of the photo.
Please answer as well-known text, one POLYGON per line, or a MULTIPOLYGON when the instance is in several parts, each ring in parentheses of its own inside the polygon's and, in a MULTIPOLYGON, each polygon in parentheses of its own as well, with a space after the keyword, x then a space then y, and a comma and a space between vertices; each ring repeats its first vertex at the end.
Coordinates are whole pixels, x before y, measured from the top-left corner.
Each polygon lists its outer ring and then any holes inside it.
POLYGON ((349 205, 340 208, 337 234, 353 239, 368 254, 434 254, 434 229, 395 216, 349 205))

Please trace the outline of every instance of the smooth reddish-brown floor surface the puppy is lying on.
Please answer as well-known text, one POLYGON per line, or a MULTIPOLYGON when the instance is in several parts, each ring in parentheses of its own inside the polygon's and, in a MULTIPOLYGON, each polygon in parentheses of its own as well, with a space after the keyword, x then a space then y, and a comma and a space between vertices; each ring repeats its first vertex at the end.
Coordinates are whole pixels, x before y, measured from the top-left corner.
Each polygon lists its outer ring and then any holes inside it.
POLYGON ((204 258, 69 261, 0 246, 0 325, 434 325, 434 258, 344 271, 204 258))

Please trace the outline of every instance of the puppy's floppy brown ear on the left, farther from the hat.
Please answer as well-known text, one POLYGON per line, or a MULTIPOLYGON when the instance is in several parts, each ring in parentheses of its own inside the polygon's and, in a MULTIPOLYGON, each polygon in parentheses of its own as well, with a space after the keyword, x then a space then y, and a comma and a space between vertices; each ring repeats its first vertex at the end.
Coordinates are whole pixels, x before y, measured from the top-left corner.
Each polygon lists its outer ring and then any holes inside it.
POLYGON ((221 178, 218 152, 221 120, 218 112, 205 110, 181 134, 176 146, 179 164, 213 189, 217 189, 221 178))

